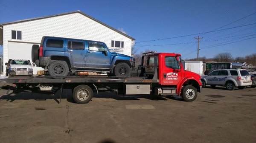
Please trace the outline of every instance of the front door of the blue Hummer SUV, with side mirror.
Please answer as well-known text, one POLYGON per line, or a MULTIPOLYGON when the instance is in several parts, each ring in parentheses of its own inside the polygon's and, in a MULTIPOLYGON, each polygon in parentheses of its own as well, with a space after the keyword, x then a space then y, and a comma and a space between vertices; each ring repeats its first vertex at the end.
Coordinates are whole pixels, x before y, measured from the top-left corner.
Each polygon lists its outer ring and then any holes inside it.
POLYGON ((109 69, 111 64, 111 54, 108 48, 102 43, 89 42, 87 51, 87 68, 109 69))

